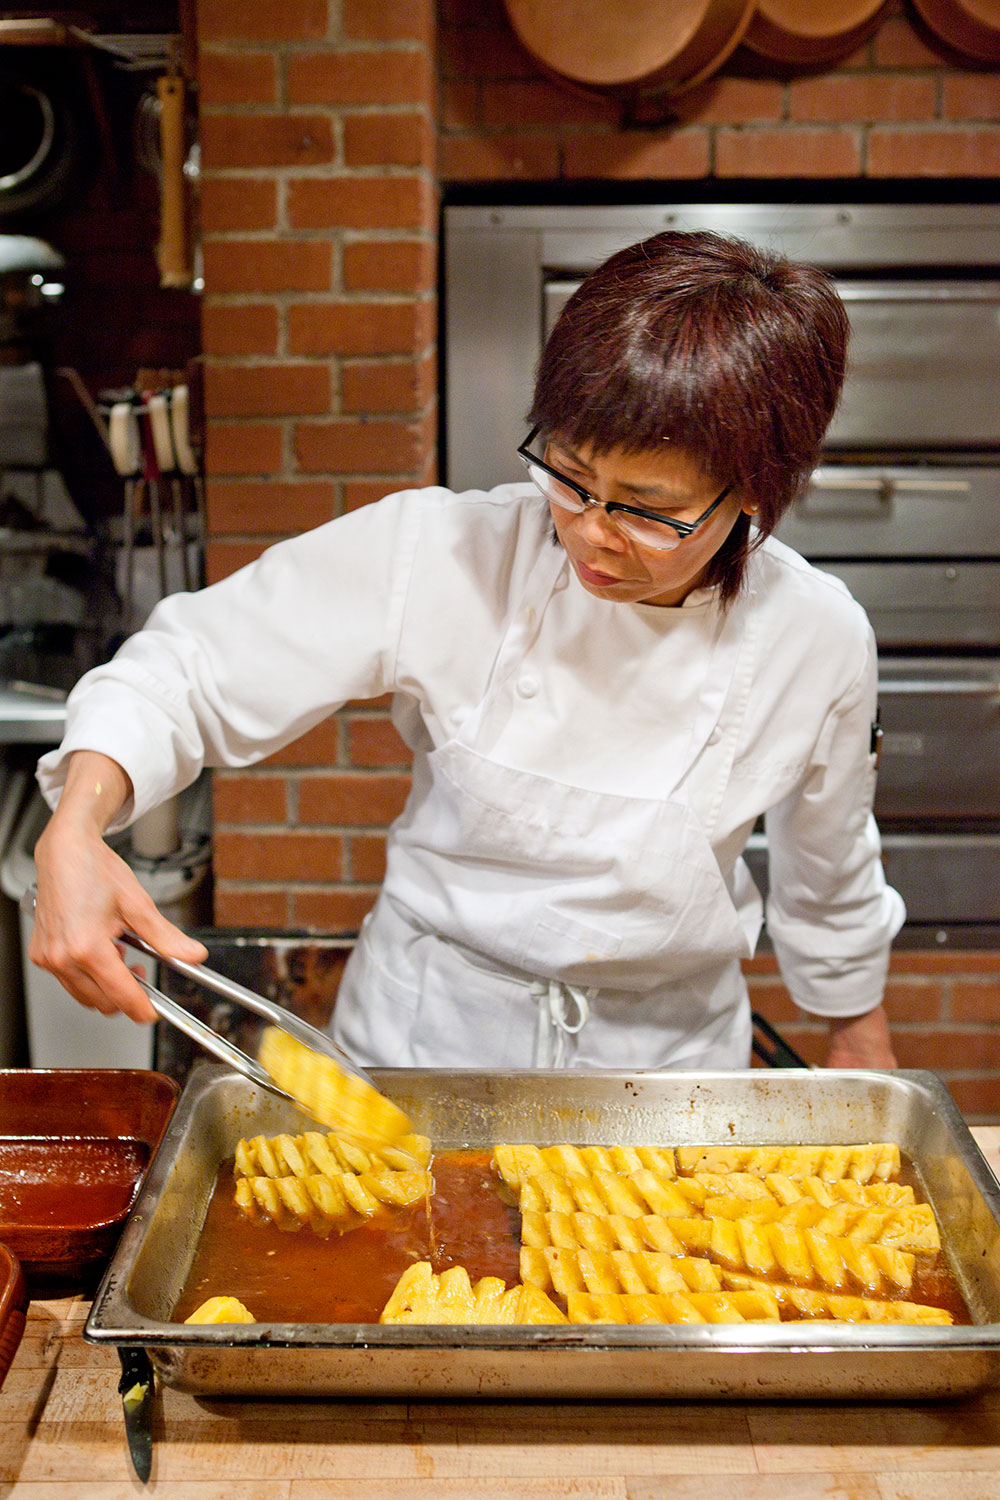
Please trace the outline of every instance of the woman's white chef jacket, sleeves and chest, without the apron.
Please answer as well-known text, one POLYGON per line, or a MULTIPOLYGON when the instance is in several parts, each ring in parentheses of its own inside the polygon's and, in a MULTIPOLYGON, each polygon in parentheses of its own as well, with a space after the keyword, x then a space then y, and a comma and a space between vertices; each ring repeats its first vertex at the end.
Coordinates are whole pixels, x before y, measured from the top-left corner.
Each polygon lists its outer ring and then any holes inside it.
MULTIPOLYGON (((556 546, 534 486, 406 490, 291 542, 198 594, 175 594, 67 704, 39 782, 55 802, 73 750, 132 778, 114 831, 202 766, 244 766, 348 699, 393 694, 415 759, 478 704, 538 548, 556 546)), ((718 628, 715 590, 679 608, 592 597, 565 562, 496 718, 493 759, 598 792, 678 784, 747 932, 760 900, 741 852, 765 816, 766 922, 795 1000, 856 1016, 882 999, 903 902, 871 816, 876 650, 843 584, 769 538, 747 608, 757 651, 736 754, 685 748, 718 628), (525 710, 529 711, 525 711, 525 710)), ((732 748, 732 747, 730 747, 732 748)), ((420 777, 415 777, 420 783, 420 777)))

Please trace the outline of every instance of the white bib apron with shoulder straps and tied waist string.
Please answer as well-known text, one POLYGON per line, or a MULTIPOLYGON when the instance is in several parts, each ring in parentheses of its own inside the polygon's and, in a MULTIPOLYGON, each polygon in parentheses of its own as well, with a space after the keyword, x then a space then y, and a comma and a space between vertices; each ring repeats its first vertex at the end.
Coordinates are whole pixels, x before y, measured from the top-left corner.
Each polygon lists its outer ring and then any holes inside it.
MULTIPOLYGON (((744 1068, 747 933, 682 783, 712 741, 726 784, 753 674, 751 610, 715 634, 664 795, 592 792, 489 754, 562 549, 541 549, 481 704, 418 758, 333 1030, 358 1062, 442 1068, 744 1068)), ((513 710, 516 711, 516 708, 513 710)))

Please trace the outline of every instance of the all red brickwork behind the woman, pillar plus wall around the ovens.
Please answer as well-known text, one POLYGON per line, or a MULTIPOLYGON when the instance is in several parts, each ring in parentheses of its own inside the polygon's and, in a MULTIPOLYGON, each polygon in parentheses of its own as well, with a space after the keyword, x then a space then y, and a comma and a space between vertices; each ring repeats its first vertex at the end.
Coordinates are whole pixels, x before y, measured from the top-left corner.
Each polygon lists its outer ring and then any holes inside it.
MULTIPOLYGON (((673 100, 546 80, 501 0, 199 0, 210 576, 433 474, 441 182, 969 178, 1000 172, 1000 80, 903 4, 858 52, 781 74, 738 50, 673 100)), ((220 924, 357 927, 406 792, 384 704, 216 778, 220 924)), ((768 958, 754 1000, 813 1056, 768 958)), ((1000 1116, 1000 956, 907 954, 904 1064, 1000 1116)))

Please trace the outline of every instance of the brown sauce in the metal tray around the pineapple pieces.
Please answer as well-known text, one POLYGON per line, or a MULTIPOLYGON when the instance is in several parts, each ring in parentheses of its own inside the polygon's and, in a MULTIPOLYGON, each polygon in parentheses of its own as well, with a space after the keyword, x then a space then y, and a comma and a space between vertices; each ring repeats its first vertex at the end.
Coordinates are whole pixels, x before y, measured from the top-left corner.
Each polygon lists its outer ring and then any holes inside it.
MULTIPOLYGON (((429 1200, 385 1209, 321 1239, 307 1227, 279 1230, 244 1218, 232 1202, 232 1161, 223 1162, 174 1320, 183 1322, 207 1298, 234 1296, 259 1323, 378 1323, 415 1260, 429 1260, 435 1272, 465 1266, 474 1282, 501 1276, 516 1286, 520 1214, 493 1172, 492 1152, 438 1152, 432 1173, 429 1200)), ((900 1180, 924 1202, 909 1164, 900 1180)), ((906 1300, 946 1308, 955 1323, 972 1322, 942 1254, 916 1257, 906 1300)))

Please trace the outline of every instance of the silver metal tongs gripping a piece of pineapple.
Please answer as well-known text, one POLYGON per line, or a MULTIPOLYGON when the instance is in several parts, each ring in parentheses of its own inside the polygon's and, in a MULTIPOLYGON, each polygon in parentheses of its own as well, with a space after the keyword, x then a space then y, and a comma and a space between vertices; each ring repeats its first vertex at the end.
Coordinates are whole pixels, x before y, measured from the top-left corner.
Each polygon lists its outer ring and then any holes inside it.
MULTIPOLYGON (((27 916, 34 915, 34 886, 28 886, 21 897, 21 910, 27 916)), ((235 980, 226 980, 223 974, 216 974, 214 969, 208 969, 202 963, 186 963, 183 958, 172 958, 169 954, 160 952, 154 948, 153 944, 145 940, 145 938, 139 938, 138 933, 126 930, 120 934, 120 942, 123 942, 127 948, 135 948, 136 952, 145 954, 147 958, 154 958, 157 963, 166 964, 169 969, 174 969, 175 974, 181 974, 193 984, 199 984, 202 988, 211 990, 214 994, 219 994, 226 1000, 234 1000, 237 1005, 243 1005, 247 1011, 252 1011, 255 1016, 261 1016, 273 1026, 277 1026, 279 1030, 294 1036, 295 1041, 303 1042, 313 1052, 318 1052, 325 1058, 333 1058, 339 1068, 352 1074, 355 1078, 361 1078, 363 1083, 367 1083, 369 1088, 376 1089, 378 1092, 378 1084, 372 1083, 367 1072, 364 1072, 363 1068, 358 1068, 358 1065, 348 1058, 346 1052, 343 1052, 342 1047, 337 1047, 331 1036, 318 1030, 315 1026, 310 1026, 309 1022, 303 1022, 291 1011, 286 1011, 283 1005, 265 1000, 262 994, 247 990, 243 984, 237 984, 235 980)), ((142 980, 138 974, 135 974, 133 978, 145 990, 156 1014, 168 1022, 168 1024, 175 1026, 177 1030, 184 1034, 184 1036, 189 1036, 190 1041, 204 1047, 204 1050, 211 1053, 213 1058, 228 1064, 229 1068, 243 1074, 244 1078, 259 1084, 270 1094, 276 1094, 277 1098, 294 1104, 295 1108, 303 1108, 298 1100, 295 1100, 285 1089, 279 1089, 271 1076, 264 1071, 255 1058, 247 1056, 247 1053, 241 1052, 241 1048, 234 1042, 226 1041, 225 1036, 220 1036, 219 1032, 213 1030, 211 1026, 207 1026, 205 1022, 198 1020, 196 1016, 186 1011, 183 1005, 177 1004, 177 1000, 171 1000, 168 994, 157 990, 148 980, 142 980)))

